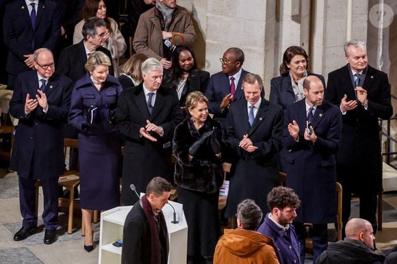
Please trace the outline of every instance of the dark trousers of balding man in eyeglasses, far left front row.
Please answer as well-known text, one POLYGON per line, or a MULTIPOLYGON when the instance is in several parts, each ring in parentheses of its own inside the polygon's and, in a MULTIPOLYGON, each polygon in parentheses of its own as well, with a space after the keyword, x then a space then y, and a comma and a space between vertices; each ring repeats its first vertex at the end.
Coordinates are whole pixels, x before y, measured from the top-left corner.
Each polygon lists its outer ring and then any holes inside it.
MULTIPOLYGON (((22 226, 37 226, 36 180, 19 177, 19 208, 23 217, 22 226)), ((58 226, 58 178, 41 180, 44 196, 42 220, 46 229, 55 230, 58 226)))

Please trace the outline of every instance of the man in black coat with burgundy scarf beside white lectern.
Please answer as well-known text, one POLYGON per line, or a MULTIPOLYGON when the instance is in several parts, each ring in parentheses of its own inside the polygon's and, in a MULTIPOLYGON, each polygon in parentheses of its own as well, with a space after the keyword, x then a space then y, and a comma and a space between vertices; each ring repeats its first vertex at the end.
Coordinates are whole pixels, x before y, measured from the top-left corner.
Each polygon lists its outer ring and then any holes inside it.
POLYGON ((124 224, 121 263, 166 264, 168 230, 162 208, 168 203, 172 185, 162 177, 153 178, 129 211, 124 224))

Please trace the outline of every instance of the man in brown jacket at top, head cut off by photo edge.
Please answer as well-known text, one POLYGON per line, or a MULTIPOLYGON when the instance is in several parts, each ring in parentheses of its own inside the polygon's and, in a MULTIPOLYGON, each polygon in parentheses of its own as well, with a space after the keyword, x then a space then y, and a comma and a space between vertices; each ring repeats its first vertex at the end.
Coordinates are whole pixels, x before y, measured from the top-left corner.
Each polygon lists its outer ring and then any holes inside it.
POLYGON ((173 47, 190 46, 195 41, 196 33, 188 10, 177 5, 177 0, 156 0, 155 7, 139 18, 133 49, 136 53, 155 57, 168 69, 173 47))

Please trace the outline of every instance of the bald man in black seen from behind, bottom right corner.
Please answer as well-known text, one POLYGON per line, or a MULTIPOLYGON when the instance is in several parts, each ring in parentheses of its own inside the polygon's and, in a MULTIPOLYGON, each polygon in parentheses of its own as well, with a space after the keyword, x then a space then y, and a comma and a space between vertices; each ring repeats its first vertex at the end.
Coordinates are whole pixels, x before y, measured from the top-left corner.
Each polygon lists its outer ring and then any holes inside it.
POLYGON ((317 264, 379 264, 385 256, 374 252, 372 224, 361 218, 350 219, 345 227, 346 238, 331 243, 322 252, 317 264))

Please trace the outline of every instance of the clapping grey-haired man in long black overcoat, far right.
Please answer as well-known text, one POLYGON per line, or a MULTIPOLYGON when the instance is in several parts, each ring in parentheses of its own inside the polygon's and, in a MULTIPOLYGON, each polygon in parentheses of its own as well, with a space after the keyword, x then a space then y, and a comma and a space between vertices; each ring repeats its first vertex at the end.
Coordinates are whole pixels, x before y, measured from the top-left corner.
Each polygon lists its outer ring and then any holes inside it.
POLYGON ((377 194, 382 189, 378 118, 393 114, 387 74, 368 65, 366 44, 344 45, 348 64, 329 73, 325 100, 340 107, 342 141, 337 152, 337 181, 342 184, 342 221, 350 216, 350 198, 360 198, 359 214, 376 232, 377 194))

